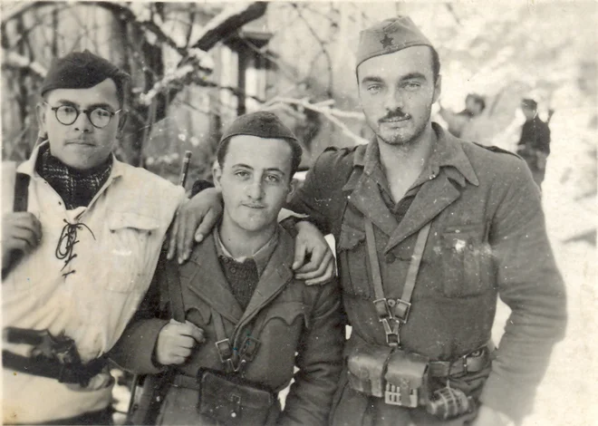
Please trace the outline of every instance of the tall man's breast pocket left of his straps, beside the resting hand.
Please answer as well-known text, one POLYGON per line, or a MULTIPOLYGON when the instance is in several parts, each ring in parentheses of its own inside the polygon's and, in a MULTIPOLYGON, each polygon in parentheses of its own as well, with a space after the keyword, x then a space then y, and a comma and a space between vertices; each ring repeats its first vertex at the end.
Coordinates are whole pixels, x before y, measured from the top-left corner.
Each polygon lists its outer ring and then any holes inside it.
POLYGON ((342 291, 370 298, 368 247, 365 231, 342 223, 337 243, 342 291))

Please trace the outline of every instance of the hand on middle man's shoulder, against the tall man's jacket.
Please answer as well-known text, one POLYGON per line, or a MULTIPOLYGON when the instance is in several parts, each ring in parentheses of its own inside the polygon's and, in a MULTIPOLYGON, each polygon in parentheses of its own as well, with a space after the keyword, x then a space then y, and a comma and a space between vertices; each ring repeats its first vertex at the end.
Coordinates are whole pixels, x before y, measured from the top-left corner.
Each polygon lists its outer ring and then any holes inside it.
POLYGON ((323 284, 336 273, 333 252, 322 233, 311 223, 301 221, 295 225, 297 237, 294 240, 294 276, 313 286, 323 284), (305 258, 310 256, 304 265, 305 258))

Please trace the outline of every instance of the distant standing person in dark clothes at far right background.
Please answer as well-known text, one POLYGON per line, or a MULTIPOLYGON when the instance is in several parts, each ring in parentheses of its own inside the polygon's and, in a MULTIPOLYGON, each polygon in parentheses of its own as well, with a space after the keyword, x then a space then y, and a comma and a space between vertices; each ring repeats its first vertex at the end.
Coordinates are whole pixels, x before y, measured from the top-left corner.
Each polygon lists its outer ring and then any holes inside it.
POLYGON ((546 159, 550 154, 550 129, 540 120, 537 102, 533 99, 521 101, 521 111, 526 122, 521 129, 521 138, 517 143, 517 154, 526 160, 538 187, 542 186, 546 171, 546 159))

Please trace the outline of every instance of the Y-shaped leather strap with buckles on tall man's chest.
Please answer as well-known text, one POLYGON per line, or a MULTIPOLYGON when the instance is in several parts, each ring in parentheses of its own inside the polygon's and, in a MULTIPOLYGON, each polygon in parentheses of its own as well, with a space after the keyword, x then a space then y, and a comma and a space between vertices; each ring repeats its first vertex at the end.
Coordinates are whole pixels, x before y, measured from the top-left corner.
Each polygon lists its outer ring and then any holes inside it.
POLYGON ((371 220, 364 218, 365 239, 368 246, 368 257, 371 266, 371 282, 373 284, 375 300, 373 304, 378 314, 378 319, 384 327, 386 343, 391 347, 400 346, 400 327, 407 323, 411 309, 411 296, 415 288, 418 272, 420 271, 421 258, 423 257, 426 242, 428 241, 431 222, 420 229, 413 248, 409 270, 403 286, 403 293, 400 299, 389 299, 384 295, 382 286, 381 268, 376 250, 376 239, 371 220))

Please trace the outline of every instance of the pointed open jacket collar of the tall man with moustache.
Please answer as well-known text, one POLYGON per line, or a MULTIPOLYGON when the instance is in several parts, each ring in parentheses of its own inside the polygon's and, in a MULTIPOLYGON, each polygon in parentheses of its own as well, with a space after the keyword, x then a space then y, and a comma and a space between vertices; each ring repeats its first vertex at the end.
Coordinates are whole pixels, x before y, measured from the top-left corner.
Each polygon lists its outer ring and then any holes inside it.
MULTIPOLYGON (((405 197, 414 195, 426 181, 439 176, 441 169, 450 179, 456 180, 461 187, 465 187, 466 179, 473 185, 479 184, 476 172, 459 140, 436 122, 432 122, 432 129, 436 132, 436 144, 420 173, 420 177, 413 182, 405 197)), ((358 155, 355 155, 353 160, 353 166, 362 167, 365 174, 374 179, 387 195, 391 195, 388 180, 381 167, 380 148, 377 140, 371 140, 361 155, 358 151, 358 155)))

